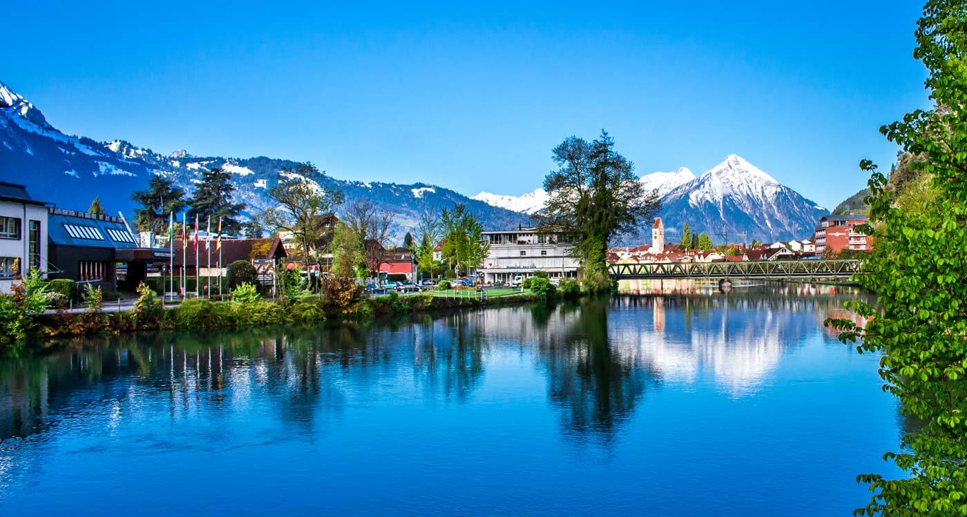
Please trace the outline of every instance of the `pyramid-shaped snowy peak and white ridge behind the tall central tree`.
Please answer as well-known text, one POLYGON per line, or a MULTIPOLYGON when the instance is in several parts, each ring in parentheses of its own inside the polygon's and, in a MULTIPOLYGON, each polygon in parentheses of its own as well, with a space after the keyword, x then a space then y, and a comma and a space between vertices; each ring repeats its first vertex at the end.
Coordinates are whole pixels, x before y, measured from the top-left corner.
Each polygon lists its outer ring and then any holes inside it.
MULTIPOLYGON (((716 242, 762 242, 811 238, 820 215, 829 212, 738 155, 729 155, 699 177, 686 167, 653 172, 639 180, 661 198, 665 232, 681 236, 688 222, 716 242)), ((474 196, 494 206, 534 214, 548 194, 538 188, 522 196, 481 192, 474 196)), ((633 240, 632 240, 633 241, 633 240)))

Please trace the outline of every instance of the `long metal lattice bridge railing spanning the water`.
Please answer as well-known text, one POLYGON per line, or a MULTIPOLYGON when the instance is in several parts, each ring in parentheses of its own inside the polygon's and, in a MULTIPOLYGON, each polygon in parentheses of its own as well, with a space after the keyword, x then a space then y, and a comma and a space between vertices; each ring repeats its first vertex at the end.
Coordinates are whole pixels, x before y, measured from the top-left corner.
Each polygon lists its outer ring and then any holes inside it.
POLYGON ((850 276, 860 273, 861 262, 843 260, 779 260, 745 262, 691 262, 611 264, 615 278, 729 278, 850 276))

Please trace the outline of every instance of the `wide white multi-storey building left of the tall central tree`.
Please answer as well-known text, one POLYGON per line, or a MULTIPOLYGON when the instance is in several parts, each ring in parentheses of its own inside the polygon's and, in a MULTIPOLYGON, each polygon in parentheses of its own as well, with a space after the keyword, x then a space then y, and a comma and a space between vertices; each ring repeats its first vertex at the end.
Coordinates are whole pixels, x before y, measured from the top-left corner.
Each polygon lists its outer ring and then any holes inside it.
POLYGON ((533 276, 546 272, 548 276, 577 277, 580 261, 571 256, 575 239, 561 233, 539 233, 536 228, 484 232, 490 252, 478 273, 484 273, 484 283, 509 283, 514 276, 533 276))

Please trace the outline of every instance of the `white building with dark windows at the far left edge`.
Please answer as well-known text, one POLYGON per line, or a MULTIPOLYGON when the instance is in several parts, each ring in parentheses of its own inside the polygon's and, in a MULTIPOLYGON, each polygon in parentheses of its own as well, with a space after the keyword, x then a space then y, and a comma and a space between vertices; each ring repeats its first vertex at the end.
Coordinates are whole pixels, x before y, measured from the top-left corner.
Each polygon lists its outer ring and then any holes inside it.
POLYGON ((47 272, 47 208, 26 187, 0 182, 0 291, 9 293, 14 277, 37 268, 47 272))

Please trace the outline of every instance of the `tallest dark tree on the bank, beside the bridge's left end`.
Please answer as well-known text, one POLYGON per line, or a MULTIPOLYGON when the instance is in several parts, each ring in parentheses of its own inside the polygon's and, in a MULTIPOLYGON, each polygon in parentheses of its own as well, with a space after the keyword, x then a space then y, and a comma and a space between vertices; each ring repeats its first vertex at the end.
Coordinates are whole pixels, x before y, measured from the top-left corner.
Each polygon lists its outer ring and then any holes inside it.
POLYGON ((549 199, 539 224, 575 236, 573 253, 582 262, 585 286, 608 289, 608 244, 618 235, 637 233, 641 221, 658 212, 658 194, 637 181, 634 165, 614 151, 607 131, 590 143, 570 136, 551 157, 558 169, 544 178, 549 199))

